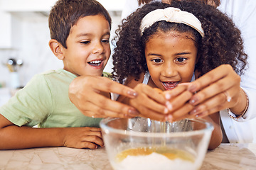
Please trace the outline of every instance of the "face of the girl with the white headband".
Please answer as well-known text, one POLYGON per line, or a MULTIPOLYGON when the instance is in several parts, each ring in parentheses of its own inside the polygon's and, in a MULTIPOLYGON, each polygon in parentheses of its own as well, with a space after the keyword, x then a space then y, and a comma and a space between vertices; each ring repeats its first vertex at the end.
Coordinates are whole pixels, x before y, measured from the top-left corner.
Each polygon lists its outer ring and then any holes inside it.
POLYGON ((145 55, 151 79, 159 89, 171 90, 191 81, 197 57, 191 34, 157 32, 146 42, 145 55))

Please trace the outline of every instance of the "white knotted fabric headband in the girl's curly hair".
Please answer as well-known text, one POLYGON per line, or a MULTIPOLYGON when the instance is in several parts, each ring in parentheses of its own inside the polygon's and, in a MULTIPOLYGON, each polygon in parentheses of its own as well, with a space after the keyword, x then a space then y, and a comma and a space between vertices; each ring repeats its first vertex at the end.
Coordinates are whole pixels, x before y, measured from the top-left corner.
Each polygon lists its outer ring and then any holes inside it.
POLYGON ((144 32, 145 28, 149 28, 157 21, 167 21, 170 23, 184 23, 187 26, 191 26, 201 36, 204 36, 203 28, 201 22, 192 13, 186 11, 181 11, 179 8, 169 7, 164 9, 156 9, 146 14, 142 19, 142 24, 140 26, 141 33, 144 32))

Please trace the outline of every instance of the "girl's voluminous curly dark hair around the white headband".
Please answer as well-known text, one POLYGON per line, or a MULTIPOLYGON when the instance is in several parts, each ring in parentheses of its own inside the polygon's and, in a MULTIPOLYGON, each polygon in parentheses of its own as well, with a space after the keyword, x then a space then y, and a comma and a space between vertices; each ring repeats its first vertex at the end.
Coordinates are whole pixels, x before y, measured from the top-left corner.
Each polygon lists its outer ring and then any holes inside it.
POLYGON ((198 62, 195 69, 200 73, 199 77, 221 64, 230 64, 240 75, 246 68, 247 55, 244 52, 240 30, 232 19, 201 1, 173 0, 171 4, 162 4, 161 2, 146 4, 122 21, 122 25, 116 30, 114 37, 114 41, 116 41, 112 55, 114 80, 119 83, 123 83, 127 77, 134 77, 138 80, 139 75, 148 70, 144 47, 151 35, 154 35, 158 29, 161 31, 175 29, 178 33, 192 33, 198 47, 198 62), (182 11, 193 13, 201 21, 204 37, 201 38, 198 32, 189 26, 178 23, 171 24, 166 21, 154 23, 151 27, 146 28, 141 35, 139 27, 142 18, 151 11, 167 7, 176 7, 182 11), (174 28, 165 29, 166 26, 174 28))

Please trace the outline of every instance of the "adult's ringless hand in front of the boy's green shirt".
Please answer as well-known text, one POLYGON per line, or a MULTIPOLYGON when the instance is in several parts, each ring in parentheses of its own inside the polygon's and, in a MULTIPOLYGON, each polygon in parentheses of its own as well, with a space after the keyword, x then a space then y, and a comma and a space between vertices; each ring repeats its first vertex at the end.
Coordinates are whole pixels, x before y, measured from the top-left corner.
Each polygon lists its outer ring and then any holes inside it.
POLYGON ((95 118, 134 117, 136 109, 110 99, 110 92, 129 98, 137 96, 133 89, 107 77, 83 76, 75 78, 69 87, 70 101, 84 115, 95 118))

